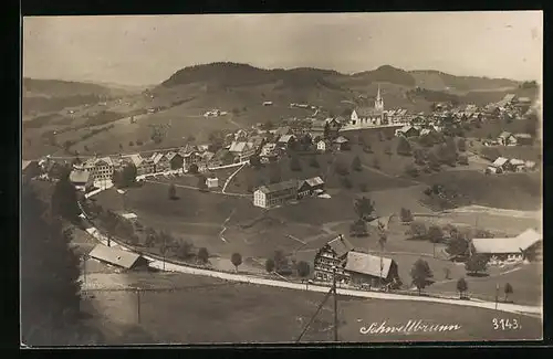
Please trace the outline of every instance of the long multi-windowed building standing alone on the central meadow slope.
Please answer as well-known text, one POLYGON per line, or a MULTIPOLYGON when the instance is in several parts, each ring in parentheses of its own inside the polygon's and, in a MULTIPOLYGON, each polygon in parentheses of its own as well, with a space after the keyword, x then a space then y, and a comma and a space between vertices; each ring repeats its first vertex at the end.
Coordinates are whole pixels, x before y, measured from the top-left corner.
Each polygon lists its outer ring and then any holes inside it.
POLYGON ((309 196, 322 196, 324 184, 321 177, 314 177, 261 186, 253 191, 253 205, 270 209, 309 196))

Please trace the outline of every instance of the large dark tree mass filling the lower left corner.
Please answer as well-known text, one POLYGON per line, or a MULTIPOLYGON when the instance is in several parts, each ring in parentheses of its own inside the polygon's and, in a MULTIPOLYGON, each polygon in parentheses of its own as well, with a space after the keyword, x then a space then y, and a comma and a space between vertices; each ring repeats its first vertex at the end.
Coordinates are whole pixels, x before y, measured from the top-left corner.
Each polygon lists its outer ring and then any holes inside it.
POLYGON ((80 261, 71 230, 35 193, 21 191, 20 305, 22 341, 30 346, 75 345, 82 334, 80 261))

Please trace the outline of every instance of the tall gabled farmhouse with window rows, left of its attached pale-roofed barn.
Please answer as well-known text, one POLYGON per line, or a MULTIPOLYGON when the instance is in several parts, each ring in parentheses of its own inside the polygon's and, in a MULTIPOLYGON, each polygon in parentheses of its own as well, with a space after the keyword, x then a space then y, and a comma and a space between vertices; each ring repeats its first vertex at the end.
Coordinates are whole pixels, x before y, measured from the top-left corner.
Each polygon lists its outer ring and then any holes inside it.
POLYGON ((333 236, 315 254, 313 261, 313 278, 321 282, 333 281, 334 271, 336 282, 347 282, 348 275, 344 272, 344 262, 347 253, 354 250, 353 244, 342 234, 333 236))

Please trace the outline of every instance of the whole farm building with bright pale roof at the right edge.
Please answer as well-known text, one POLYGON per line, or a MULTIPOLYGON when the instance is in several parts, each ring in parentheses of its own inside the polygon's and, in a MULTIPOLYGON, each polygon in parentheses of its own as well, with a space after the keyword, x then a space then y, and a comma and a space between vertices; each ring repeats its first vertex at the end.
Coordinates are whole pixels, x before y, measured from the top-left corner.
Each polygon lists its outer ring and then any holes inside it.
POLYGON ((528 229, 514 237, 472 239, 471 251, 491 261, 521 261, 533 258, 542 245, 542 235, 528 229))

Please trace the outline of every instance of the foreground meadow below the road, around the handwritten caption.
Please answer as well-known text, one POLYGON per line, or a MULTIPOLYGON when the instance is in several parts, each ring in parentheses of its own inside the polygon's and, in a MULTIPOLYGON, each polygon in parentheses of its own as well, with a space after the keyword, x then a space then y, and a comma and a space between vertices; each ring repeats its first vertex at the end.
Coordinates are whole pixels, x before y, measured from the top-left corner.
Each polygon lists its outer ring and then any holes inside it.
MULTIPOLYGON (((157 344, 293 342, 324 296, 321 293, 255 285, 225 285, 220 281, 188 275, 166 275, 166 279, 132 279, 132 285, 190 287, 189 291, 171 293, 143 292, 139 325, 134 294, 94 293, 95 297, 91 300, 102 309, 94 320, 101 323, 105 330, 116 332, 119 328, 128 330, 128 327, 137 326, 144 331, 142 340, 144 336, 149 336, 157 344)), ((328 300, 306 331, 303 341, 332 340, 332 300, 328 300)), ((538 318, 417 302, 340 297, 338 323, 341 341, 515 340, 541 337, 541 320, 538 318), (517 319, 521 328, 494 330, 493 318, 509 318, 511 323, 517 319), (399 326, 408 320, 458 325, 459 328, 450 332, 419 331, 410 335, 359 332, 362 327, 368 327, 372 323, 386 321, 399 326)), ((127 338, 128 341, 131 339, 127 338)))

